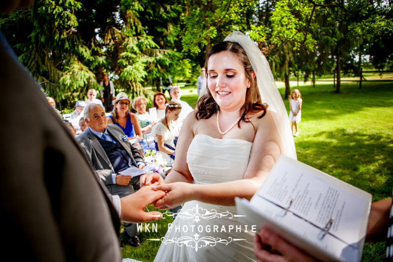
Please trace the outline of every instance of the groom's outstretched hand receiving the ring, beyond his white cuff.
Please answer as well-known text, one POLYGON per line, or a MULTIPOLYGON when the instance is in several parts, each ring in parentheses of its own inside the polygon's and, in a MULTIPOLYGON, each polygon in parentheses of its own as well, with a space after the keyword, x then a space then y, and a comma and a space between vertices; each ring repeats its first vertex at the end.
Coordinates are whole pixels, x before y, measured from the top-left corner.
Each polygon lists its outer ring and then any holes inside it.
POLYGON ((162 214, 159 211, 144 212, 147 205, 165 196, 164 191, 153 191, 150 186, 146 186, 120 199, 122 221, 140 223, 144 221, 159 220, 162 214))

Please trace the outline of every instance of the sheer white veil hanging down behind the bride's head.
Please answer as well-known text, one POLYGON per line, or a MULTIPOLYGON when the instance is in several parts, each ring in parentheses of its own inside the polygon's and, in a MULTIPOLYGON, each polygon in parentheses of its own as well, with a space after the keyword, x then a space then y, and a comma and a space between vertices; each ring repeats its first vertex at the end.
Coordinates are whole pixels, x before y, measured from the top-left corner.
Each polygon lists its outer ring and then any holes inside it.
POLYGON ((247 57, 256 75, 256 85, 258 86, 262 103, 266 103, 268 105, 268 110, 276 113, 273 114, 273 118, 281 136, 284 147, 283 154, 293 159, 297 159, 288 114, 284 102, 282 101, 281 94, 274 82, 273 74, 267 59, 259 50, 256 43, 242 32, 234 31, 228 34, 224 41, 237 42, 246 51, 247 57))

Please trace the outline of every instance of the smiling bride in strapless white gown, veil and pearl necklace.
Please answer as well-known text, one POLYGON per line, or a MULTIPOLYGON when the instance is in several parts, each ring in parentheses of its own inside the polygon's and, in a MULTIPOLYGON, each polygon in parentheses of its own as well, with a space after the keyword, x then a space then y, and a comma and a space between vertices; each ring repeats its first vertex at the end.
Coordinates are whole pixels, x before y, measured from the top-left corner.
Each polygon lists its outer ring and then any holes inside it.
MULTIPOLYGON (((241 226, 234 198, 251 199, 285 154, 296 159, 288 116, 269 64, 248 36, 229 34, 207 54, 207 89, 185 119, 172 171, 141 183, 184 204, 155 261, 254 261, 253 233, 241 226), (240 230, 238 230, 240 229, 240 230)), ((239 214, 241 215, 241 214, 239 214)))

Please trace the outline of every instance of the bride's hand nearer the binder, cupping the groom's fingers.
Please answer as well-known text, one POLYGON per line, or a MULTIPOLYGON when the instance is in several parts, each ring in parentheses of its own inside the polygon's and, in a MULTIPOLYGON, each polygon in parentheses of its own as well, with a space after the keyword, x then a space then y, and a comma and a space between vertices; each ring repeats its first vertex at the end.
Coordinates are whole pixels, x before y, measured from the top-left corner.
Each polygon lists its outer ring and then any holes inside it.
POLYGON ((157 185, 153 186, 153 190, 162 190, 166 192, 163 198, 153 203, 154 206, 159 209, 169 209, 187 201, 191 201, 195 194, 193 191, 193 184, 185 182, 157 185))

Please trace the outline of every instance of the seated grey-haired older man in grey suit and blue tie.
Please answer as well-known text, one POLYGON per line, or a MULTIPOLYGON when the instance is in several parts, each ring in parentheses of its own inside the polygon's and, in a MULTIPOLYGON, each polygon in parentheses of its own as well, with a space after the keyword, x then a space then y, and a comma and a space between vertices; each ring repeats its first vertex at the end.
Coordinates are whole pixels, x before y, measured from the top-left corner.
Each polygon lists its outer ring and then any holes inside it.
MULTIPOLYGON (((76 140, 81 145, 87 160, 112 195, 120 198, 139 189, 139 177, 131 180, 131 176, 121 175, 121 171, 135 166, 145 166, 138 149, 124 142, 124 132, 117 125, 107 125, 105 109, 101 105, 90 103, 85 107, 84 120, 88 126, 76 140)), ((139 246, 137 225, 124 223, 124 231, 129 236, 131 246, 139 246)))

